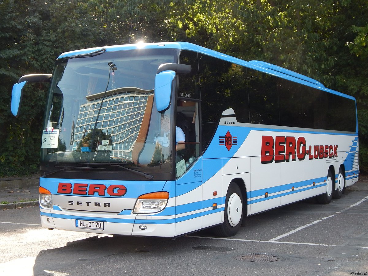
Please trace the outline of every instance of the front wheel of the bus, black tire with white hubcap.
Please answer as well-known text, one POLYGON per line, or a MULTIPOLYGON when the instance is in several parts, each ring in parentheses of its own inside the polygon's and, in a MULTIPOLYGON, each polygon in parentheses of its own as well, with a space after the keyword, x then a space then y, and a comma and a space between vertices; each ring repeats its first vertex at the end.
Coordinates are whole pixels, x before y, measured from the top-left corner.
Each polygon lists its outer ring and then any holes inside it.
POLYGON ((243 207, 240 188, 231 182, 226 194, 224 222, 213 227, 216 236, 231 237, 238 233, 243 221, 243 207))

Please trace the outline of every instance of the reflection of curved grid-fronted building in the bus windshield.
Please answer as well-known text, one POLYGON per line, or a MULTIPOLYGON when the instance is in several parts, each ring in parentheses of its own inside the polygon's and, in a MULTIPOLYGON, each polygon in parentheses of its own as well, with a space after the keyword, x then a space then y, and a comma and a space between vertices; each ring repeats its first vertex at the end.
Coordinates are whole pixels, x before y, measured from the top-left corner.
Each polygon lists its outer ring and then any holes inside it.
MULTIPOLYGON (((75 127, 73 151, 95 125, 104 92, 88 95, 88 103, 81 105, 75 127)), ((153 90, 135 87, 118 88, 107 91, 103 100, 96 128, 111 135, 112 152, 110 157, 132 160, 137 163, 138 154, 148 132, 153 102, 153 90)))

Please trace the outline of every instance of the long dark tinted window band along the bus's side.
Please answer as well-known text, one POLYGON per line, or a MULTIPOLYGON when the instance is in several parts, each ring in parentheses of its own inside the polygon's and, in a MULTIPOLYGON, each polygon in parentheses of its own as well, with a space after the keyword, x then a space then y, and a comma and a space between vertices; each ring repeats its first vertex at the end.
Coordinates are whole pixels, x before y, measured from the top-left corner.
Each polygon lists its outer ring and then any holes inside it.
POLYGON ((228 108, 242 123, 355 131, 354 100, 190 51, 181 52, 180 63, 192 72, 180 76, 179 94, 202 100, 203 149, 228 108))

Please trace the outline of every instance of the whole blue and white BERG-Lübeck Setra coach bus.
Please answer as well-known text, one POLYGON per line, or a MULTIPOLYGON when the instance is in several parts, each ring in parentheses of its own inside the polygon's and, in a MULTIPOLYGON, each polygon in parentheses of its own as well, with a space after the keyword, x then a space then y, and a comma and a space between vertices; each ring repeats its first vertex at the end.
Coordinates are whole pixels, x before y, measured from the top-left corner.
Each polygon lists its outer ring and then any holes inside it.
POLYGON ((358 180, 355 99, 262 61, 185 42, 61 54, 41 141, 40 214, 49 229, 177 237, 358 180))

